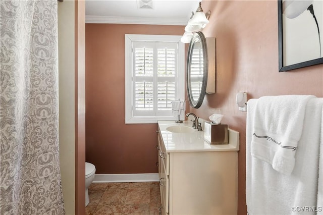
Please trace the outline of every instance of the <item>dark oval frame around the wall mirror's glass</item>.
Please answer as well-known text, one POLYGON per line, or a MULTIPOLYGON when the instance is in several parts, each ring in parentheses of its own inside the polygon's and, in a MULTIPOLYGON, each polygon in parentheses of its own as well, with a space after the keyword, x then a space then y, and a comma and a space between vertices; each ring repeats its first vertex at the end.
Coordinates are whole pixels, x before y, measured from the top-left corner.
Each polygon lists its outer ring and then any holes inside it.
POLYGON ((198 31, 193 34, 193 37, 191 39, 191 42, 188 47, 188 53, 187 53, 187 65, 186 65, 186 87, 187 87, 187 94, 188 94, 188 100, 192 108, 198 109, 204 99, 205 93, 206 93, 206 84, 207 84, 207 76, 208 76, 208 55, 207 55, 207 45, 206 45, 206 39, 202 32, 198 31), (203 58, 204 58, 204 66, 203 66, 203 79, 202 79, 202 87, 201 92, 198 97, 198 100, 194 100, 191 90, 191 59, 193 54, 193 48, 195 42, 200 42, 202 46, 203 51, 203 58))

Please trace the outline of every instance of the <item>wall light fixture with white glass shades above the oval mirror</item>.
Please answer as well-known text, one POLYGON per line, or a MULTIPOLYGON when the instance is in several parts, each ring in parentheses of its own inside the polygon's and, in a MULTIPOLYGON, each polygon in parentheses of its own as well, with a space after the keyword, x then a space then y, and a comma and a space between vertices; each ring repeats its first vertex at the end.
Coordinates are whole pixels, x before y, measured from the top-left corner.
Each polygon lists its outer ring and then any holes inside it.
POLYGON ((189 19, 187 25, 185 26, 185 32, 181 38, 183 43, 189 43, 191 41, 192 35, 194 31, 198 31, 201 28, 204 28, 206 24, 209 23, 208 19, 211 15, 211 12, 208 11, 204 14, 203 9, 201 7, 201 2, 198 3, 198 8, 196 9, 196 13, 192 11, 191 18, 189 19))

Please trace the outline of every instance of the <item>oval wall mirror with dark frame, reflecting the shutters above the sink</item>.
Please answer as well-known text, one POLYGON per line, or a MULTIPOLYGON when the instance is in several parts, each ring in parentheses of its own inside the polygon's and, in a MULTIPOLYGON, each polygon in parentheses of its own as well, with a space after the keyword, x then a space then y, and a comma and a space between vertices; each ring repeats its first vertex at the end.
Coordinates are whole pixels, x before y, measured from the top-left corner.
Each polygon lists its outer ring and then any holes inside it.
POLYGON ((199 108, 203 102, 208 72, 206 39, 202 32, 192 36, 188 47, 186 66, 186 87, 188 100, 193 108, 199 108))

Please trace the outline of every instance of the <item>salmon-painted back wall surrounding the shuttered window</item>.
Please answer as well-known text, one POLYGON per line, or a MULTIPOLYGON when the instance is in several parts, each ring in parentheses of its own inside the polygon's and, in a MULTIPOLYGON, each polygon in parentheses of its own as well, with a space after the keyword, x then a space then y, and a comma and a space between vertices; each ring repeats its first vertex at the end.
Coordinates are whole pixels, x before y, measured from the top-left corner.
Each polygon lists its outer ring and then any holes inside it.
POLYGON ((125 34, 184 26, 86 24, 86 161, 96 174, 157 173, 157 124, 125 124, 125 34))

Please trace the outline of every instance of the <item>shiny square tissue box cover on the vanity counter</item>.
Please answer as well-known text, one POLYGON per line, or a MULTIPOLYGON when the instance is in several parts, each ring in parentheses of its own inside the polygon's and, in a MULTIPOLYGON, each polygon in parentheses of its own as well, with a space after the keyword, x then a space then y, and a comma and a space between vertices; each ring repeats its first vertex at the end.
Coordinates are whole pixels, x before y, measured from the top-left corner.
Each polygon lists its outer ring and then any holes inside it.
POLYGON ((204 140, 211 145, 229 144, 228 125, 205 122, 204 140))

